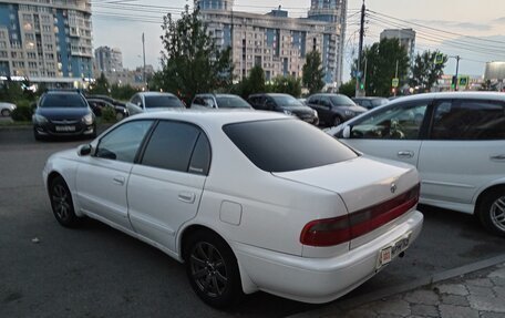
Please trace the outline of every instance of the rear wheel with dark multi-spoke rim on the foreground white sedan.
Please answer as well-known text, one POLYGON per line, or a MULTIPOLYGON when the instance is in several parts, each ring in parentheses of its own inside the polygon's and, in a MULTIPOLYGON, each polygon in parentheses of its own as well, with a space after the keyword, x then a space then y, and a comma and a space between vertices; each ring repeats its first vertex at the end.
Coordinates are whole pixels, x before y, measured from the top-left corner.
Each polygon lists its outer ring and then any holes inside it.
POLYGON ((184 259, 189 284, 196 295, 214 308, 230 308, 244 296, 231 248, 218 235, 200 230, 185 244, 184 259))

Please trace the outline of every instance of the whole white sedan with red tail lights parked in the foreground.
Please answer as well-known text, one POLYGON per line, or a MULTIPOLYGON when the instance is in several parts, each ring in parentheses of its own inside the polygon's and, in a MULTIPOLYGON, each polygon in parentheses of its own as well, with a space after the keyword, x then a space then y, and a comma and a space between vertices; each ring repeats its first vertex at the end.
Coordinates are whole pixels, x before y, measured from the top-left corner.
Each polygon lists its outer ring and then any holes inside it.
POLYGON ((43 170, 53 214, 89 216, 185 263, 214 307, 264 290, 333 300, 418 237, 419 175, 271 112, 130 117, 43 170))

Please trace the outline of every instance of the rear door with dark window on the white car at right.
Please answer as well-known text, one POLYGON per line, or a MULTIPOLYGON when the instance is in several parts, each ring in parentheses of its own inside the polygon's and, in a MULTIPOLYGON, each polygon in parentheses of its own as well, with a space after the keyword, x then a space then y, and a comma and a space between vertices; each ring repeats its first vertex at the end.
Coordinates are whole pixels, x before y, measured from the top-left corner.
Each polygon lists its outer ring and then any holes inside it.
POLYGON ((503 102, 439 100, 418 166, 425 199, 471 204, 480 189, 505 176, 503 102))

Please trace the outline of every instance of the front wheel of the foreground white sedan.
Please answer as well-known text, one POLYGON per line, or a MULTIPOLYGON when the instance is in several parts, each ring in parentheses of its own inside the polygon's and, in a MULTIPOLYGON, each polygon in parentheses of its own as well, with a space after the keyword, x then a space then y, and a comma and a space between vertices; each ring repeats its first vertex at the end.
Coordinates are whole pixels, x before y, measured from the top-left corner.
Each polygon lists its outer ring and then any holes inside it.
POLYGON ((54 217, 61 225, 64 227, 76 227, 80 225, 82 219, 75 215, 72 193, 63 177, 56 176, 51 181, 49 185, 49 198, 54 217))

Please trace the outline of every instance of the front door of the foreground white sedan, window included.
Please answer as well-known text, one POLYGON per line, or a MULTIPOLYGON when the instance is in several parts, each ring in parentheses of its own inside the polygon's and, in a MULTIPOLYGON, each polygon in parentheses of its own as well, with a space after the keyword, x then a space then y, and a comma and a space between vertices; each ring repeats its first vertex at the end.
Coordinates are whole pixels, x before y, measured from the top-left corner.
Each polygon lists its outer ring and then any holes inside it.
POLYGON ((76 189, 81 209, 131 229, 126 184, 138 148, 153 121, 131 121, 104 135, 93 155, 81 157, 76 189))

